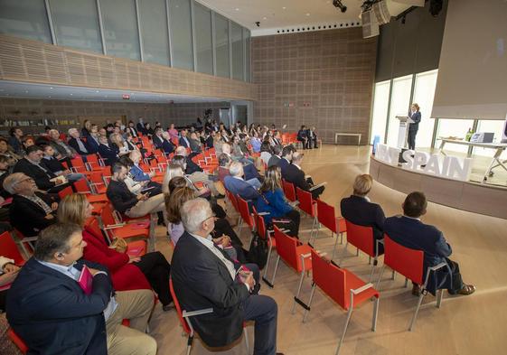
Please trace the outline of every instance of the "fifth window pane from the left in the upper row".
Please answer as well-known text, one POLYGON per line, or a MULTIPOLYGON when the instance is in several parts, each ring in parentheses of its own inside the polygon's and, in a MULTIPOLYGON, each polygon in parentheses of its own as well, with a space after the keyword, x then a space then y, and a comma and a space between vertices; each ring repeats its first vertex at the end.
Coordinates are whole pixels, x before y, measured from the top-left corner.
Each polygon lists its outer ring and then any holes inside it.
POLYGON ((190 1, 171 0, 169 4, 169 24, 171 26, 171 46, 173 47, 173 67, 193 70, 190 1))

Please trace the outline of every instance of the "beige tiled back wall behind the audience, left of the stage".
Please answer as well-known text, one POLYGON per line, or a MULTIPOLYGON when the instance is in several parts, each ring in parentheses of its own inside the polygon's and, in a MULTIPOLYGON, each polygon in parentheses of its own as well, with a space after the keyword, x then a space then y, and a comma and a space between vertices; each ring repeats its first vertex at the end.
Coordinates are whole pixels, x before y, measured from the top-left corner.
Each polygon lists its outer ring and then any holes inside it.
POLYGON ((324 142, 361 133, 367 144, 376 51, 377 39, 363 40, 361 28, 253 37, 255 122, 312 125, 324 142))

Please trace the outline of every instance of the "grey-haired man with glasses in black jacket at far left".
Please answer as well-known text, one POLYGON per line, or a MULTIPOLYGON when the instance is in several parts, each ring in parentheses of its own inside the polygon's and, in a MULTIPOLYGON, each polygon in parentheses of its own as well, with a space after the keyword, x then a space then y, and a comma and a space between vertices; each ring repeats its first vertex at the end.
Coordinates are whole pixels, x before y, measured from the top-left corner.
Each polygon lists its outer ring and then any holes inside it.
POLYGON ((13 173, 5 178, 4 189, 14 195, 9 207, 11 225, 25 237, 34 237, 55 222, 58 203, 37 191, 33 179, 24 173, 13 173))

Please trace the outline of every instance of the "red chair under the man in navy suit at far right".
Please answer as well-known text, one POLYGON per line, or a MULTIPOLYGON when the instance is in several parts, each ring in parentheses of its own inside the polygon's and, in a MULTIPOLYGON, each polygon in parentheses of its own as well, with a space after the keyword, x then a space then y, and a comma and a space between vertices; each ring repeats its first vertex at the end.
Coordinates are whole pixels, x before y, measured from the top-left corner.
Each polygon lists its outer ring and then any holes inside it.
MULTIPOLYGON (((384 265, 382 265, 380 268, 380 276, 379 281, 377 281, 377 289, 379 289, 380 279, 384 273, 386 266, 389 266, 392 269, 392 279, 394 279, 395 272, 398 272, 402 276, 405 276, 405 287, 407 287, 408 280, 410 280, 413 283, 419 285, 421 289, 416 312, 412 316, 412 320, 408 326, 408 331, 411 332, 414 329, 422 300, 427 294, 426 287, 430 273, 436 273, 437 270, 443 267, 447 267, 447 264, 440 263, 437 266, 428 267, 426 276, 423 279, 424 251, 403 247, 402 245, 392 240, 387 234, 384 234, 384 265)), ((444 290, 438 291, 437 308, 440 308, 440 304, 442 304, 442 298, 444 297, 444 290)))

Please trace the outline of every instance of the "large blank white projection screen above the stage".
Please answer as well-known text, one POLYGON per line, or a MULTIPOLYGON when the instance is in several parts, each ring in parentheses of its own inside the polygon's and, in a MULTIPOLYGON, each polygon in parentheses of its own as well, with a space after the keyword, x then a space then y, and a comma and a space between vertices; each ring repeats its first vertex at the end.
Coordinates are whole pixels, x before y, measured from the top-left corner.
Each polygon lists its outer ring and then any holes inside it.
POLYGON ((507 1, 449 0, 431 117, 506 115, 507 1))

